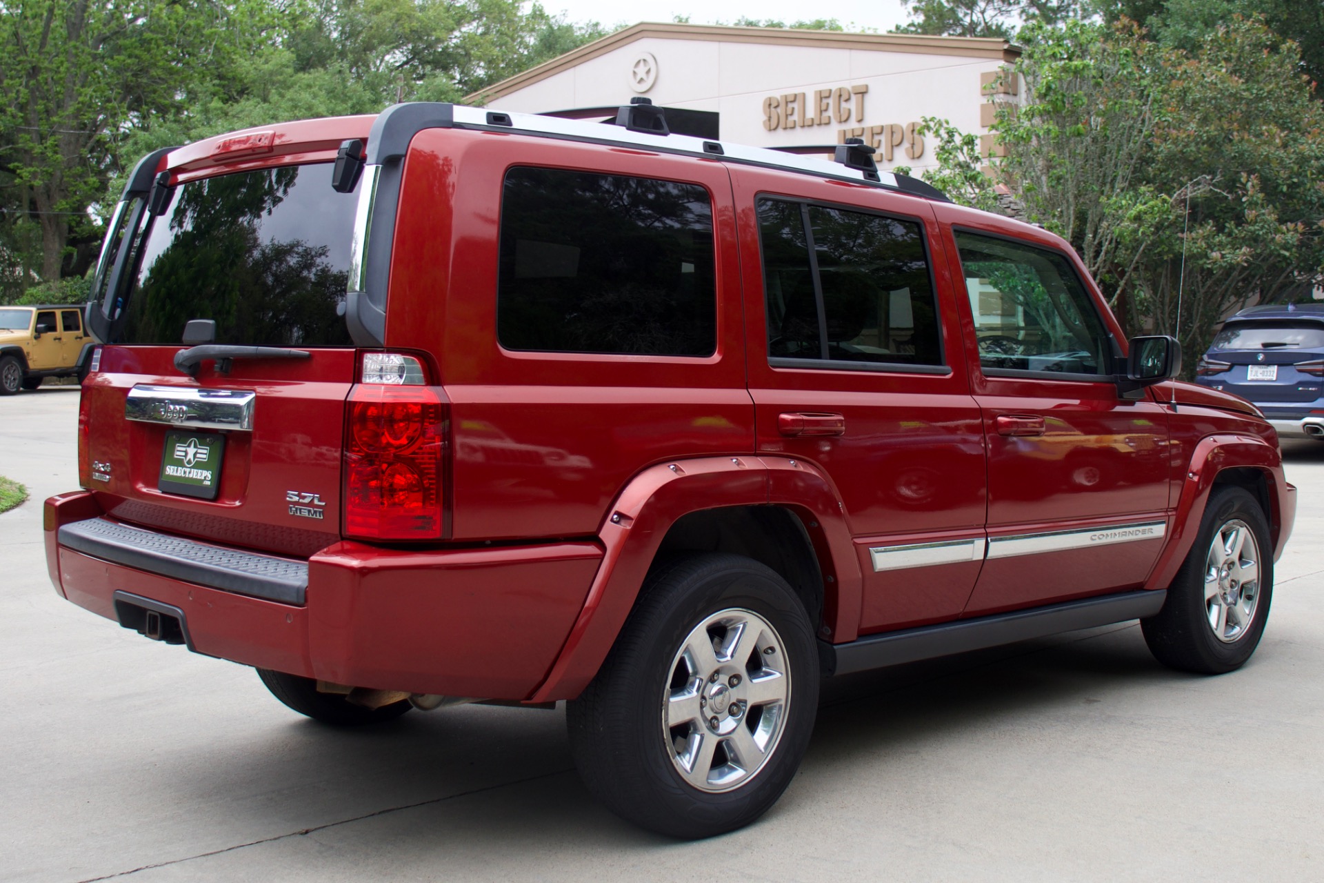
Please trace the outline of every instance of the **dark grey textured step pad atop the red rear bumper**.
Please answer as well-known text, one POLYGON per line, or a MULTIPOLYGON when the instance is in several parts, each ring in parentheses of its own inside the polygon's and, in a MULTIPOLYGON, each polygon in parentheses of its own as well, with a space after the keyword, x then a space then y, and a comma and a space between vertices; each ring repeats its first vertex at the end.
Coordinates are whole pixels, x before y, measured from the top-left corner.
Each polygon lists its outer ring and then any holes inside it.
POLYGON ((60 544, 114 564, 222 592, 302 606, 307 561, 242 552, 90 518, 60 527, 60 544))

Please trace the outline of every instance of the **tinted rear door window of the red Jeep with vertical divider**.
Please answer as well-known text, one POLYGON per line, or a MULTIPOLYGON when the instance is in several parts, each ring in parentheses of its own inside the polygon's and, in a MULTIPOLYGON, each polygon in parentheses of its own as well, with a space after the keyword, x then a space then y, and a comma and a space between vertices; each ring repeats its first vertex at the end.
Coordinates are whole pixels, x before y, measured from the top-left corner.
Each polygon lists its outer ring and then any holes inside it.
POLYGON ((918 221, 760 199, 759 224, 769 360, 943 364, 918 221))

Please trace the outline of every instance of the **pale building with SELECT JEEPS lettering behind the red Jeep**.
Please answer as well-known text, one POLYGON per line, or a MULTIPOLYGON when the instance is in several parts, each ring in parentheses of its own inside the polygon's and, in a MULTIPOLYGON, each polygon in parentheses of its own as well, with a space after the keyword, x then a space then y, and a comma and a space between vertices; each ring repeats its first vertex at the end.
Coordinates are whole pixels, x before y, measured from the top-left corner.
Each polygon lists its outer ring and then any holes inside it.
MULTIPOLYGON (((511 113, 605 118, 632 98, 687 111, 691 131, 793 152, 863 138, 880 168, 937 165, 920 119, 951 120, 993 147, 1005 40, 638 24, 471 95, 511 113), (695 131, 696 128, 696 131, 695 131)), ((821 148, 821 150, 813 150, 821 148)))

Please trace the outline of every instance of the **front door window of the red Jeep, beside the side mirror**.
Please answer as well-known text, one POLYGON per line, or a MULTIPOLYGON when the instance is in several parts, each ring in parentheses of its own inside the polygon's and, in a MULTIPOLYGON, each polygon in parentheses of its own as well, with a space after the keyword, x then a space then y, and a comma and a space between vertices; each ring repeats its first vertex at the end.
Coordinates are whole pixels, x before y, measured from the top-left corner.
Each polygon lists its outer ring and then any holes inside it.
POLYGON ((982 367, 1108 373, 1108 332, 1064 257, 964 232, 956 245, 982 367))

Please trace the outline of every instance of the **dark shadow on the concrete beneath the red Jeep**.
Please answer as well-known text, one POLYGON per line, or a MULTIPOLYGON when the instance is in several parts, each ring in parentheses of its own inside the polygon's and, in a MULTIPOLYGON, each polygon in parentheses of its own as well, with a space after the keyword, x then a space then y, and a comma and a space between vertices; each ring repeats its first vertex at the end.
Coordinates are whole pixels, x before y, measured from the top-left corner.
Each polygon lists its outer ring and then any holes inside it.
MULTIPOLYGON (((834 774, 863 760, 923 751, 972 725, 1076 714, 1140 683, 1186 678, 1160 667, 1132 624, 830 682, 805 761, 810 774, 797 777, 793 800, 768 818, 831 800, 834 774)), ((158 781, 177 782, 188 792, 175 794, 184 802, 265 792, 267 800, 245 812, 260 813, 269 835, 306 825, 299 801, 316 792, 319 801, 344 808, 319 823, 357 819, 322 837, 356 841, 368 826, 372 838, 408 837, 410 850, 438 859, 471 849, 475 838, 507 850, 675 843, 616 818, 580 785, 560 708, 469 706, 354 731, 291 721, 267 736, 266 745, 254 740, 241 764, 218 761, 191 778, 158 781)))

